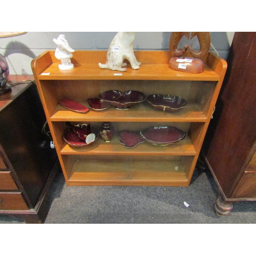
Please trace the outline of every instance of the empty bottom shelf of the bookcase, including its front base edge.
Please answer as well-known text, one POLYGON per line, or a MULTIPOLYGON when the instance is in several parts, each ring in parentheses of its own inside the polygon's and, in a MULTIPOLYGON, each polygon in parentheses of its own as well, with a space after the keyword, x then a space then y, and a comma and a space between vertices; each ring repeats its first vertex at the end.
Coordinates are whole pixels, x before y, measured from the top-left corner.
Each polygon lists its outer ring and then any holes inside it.
POLYGON ((161 159, 76 159, 68 185, 188 186, 193 157, 161 159))

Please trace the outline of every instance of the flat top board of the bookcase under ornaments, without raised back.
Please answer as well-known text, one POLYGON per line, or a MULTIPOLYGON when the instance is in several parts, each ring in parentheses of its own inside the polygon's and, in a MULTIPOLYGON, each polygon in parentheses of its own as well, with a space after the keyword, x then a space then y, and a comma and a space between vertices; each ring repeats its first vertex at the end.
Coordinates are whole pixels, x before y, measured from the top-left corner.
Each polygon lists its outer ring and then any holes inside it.
POLYGON ((139 70, 127 68, 127 71, 100 69, 97 63, 74 64, 74 69, 61 71, 57 63, 53 63, 39 75, 40 80, 197 80, 219 81, 220 76, 205 65, 201 74, 189 74, 172 70, 168 64, 142 64, 139 70), (154 71, 154 72, 152 72, 154 71), (115 75, 122 74, 122 75, 115 75))

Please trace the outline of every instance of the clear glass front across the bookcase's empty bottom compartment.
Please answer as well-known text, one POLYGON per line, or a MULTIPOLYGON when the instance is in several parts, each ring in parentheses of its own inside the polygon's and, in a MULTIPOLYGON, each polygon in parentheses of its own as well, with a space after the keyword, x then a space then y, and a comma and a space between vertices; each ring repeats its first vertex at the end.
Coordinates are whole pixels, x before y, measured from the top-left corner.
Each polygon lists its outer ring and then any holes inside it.
POLYGON ((70 180, 185 182, 192 160, 191 156, 70 156, 70 180))

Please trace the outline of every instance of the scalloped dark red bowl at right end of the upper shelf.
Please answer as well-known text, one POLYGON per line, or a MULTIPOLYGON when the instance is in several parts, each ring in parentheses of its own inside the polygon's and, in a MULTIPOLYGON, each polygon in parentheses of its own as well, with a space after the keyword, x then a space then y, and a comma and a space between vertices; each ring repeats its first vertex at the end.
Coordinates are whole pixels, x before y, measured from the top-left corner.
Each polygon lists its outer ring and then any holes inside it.
POLYGON ((154 109, 167 112, 177 112, 186 108, 188 103, 181 97, 162 94, 147 95, 146 101, 150 103, 154 109))

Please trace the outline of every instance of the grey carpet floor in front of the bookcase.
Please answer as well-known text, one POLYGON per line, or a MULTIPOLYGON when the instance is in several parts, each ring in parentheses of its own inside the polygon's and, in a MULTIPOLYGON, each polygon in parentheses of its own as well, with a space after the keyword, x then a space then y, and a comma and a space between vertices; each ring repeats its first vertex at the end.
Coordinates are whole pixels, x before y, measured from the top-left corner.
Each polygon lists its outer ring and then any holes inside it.
MULTIPOLYGON (((189 187, 68 187, 58 171, 47 199, 50 209, 45 224, 256 223, 254 201, 234 203, 228 216, 217 216, 214 203, 219 195, 209 170, 195 169, 189 187)), ((23 223, 18 218, 0 215, 0 224, 23 223)))

